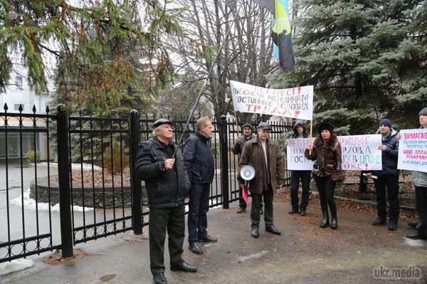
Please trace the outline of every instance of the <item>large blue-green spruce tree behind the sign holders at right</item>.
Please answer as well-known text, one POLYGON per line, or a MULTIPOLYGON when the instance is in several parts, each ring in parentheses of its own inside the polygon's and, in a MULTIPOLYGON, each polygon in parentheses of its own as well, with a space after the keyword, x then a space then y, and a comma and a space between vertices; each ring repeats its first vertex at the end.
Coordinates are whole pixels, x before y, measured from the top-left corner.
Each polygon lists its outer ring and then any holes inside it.
POLYGON ((416 126, 427 101, 426 1, 294 1, 296 70, 275 88, 315 85, 315 123, 363 134, 389 117, 416 126))

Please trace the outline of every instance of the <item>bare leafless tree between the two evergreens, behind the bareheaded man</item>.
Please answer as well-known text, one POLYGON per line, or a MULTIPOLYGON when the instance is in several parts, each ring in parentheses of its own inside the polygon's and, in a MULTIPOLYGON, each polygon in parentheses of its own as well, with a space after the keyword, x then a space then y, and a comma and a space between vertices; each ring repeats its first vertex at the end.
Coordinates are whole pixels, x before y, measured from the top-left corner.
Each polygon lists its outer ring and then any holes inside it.
POLYGON ((184 110, 188 113, 201 82, 207 79, 208 88, 198 110, 205 113, 211 110, 218 118, 227 110, 229 80, 265 86, 264 75, 277 68, 278 64, 272 60, 271 14, 250 0, 176 0, 175 3, 183 8, 181 24, 186 37, 172 38, 169 44, 181 77, 180 84, 167 92, 162 105, 169 102, 169 107, 170 103, 176 106, 176 100, 184 98, 184 110))

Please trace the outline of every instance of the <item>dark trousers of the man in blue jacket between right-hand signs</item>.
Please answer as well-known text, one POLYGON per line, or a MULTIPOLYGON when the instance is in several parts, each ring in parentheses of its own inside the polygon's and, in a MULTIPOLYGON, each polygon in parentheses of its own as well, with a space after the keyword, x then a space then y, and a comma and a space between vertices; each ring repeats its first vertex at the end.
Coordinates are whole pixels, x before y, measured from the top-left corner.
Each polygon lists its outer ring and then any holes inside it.
POLYGON ((374 179, 376 193, 376 214, 378 218, 387 218, 386 192, 389 196, 389 219, 399 220, 399 176, 379 176, 374 179))

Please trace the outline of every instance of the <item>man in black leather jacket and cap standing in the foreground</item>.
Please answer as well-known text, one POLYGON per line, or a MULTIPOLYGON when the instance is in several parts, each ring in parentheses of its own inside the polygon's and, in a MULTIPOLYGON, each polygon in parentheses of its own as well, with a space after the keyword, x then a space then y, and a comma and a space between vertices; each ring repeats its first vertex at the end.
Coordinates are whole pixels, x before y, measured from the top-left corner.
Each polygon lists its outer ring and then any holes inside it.
POLYGON ((149 260, 154 283, 167 283, 164 277, 164 241, 168 232, 171 270, 196 272, 197 267, 182 259, 185 234, 184 199, 189 177, 181 151, 172 140, 172 122, 154 122, 153 136, 139 144, 136 174, 145 182, 149 204, 149 260))

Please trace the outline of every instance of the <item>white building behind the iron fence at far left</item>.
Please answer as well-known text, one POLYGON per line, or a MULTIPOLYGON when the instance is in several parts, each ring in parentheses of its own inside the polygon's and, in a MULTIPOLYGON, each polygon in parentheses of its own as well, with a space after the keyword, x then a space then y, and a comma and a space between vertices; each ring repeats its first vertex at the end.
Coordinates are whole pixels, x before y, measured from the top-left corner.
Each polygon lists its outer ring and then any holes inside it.
MULTIPOLYGON (((54 89, 53 84, 49 84, 50 91, 54 89)), ((27 70, 23 63, 15 60, 13 63, 10 80, 6 85, 6 92, 0 93, 0 160, 6 159, 6 152, 9 159, 19 159, 25 157, 28 151, 36 148, 41 153, 41 160, 48 159, 48 136, 43 132, 7 132, 5 118, 7 117, 8 129, 19 129, 20 119, 19 107, 22 113, 33 114, 33 107, 36 107, 36 114, 46 114, 46 106, 51 100, 52 93, 36 94, 28 85, 27 70), (5 116, 4 106, 7 105, 7 116, 5 116), (34 139, 36 137, 36 139, 34 139), (7 149, 6 149, 7 147, 7 149)), ((33 119, 23 117, 22 128, 29 130, 33 127, 33 119)), ((37 127, 46 127, 46 121, 41 119, 36 122, 37 127)), ((51 151, 52 153, 52 151, 51 151)), ((52 154, 51 157, 52 159, 52 154)))

